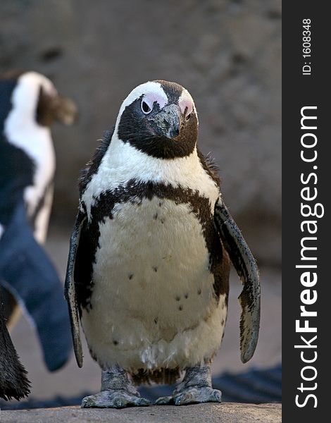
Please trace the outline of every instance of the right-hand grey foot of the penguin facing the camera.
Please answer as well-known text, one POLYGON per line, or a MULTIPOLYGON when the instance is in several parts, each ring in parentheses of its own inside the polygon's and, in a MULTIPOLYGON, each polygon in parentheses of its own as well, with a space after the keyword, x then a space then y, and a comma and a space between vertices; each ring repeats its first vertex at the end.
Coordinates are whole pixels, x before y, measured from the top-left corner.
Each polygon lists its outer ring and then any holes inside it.
POLYGON ((161 397, 156 405, 187 405, 196 403, 221 403, 222 393, 211 386, 211 367, 188 367, 185 378, 177 385, 172 396, 161 397))

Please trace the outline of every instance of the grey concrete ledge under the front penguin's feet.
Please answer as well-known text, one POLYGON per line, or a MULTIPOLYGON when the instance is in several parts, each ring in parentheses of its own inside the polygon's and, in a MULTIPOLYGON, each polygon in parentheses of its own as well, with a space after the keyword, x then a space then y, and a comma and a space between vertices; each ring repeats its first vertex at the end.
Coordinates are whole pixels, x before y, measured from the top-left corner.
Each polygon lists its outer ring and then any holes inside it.
POLYGON ((280 404, 197 404, 126 408, 123 410, 62 407, 39 410, 0 411, 0 423, 279 423, 280 404))

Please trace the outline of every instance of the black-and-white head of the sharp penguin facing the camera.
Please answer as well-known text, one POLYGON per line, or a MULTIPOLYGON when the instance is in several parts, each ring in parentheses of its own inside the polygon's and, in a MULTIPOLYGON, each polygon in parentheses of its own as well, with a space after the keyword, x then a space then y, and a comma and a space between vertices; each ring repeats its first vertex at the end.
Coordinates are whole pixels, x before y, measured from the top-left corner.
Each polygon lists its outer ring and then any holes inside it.
POLYGON ((146 82, 124 100, 115 131, 120 140, 149 156, 160 159, 189 156, 198 137, 194 101, 175 82, 146 82))

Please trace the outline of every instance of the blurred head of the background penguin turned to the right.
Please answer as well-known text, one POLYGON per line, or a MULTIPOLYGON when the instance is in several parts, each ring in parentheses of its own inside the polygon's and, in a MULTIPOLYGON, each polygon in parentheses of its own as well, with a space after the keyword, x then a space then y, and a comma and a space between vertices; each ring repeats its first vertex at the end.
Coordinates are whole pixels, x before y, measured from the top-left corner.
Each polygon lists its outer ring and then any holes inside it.
POLYGON ((73 100, 58 94, 46 76, 37 72, 20 73, 16 86, 12 103, 22 121, 37 121, 42 126, 51 126, 54 121, 65 125, 77 121, 73 100))

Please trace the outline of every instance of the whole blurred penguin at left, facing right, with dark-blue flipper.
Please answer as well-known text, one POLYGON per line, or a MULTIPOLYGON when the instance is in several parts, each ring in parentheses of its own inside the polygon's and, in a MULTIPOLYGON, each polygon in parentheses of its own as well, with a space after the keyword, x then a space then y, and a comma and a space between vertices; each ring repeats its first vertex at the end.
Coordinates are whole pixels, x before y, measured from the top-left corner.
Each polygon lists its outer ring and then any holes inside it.
POLYGON ((27 309, 50 370, 61 367, 70 353, 61 282, 41 247, 55 172, 50 126, 54 121, 71 124, 76 117, 73 101, 61 97, 44 75, 25 72, 0 79, 0 283, 5 316, 12 324, 16 301, 27 309))

